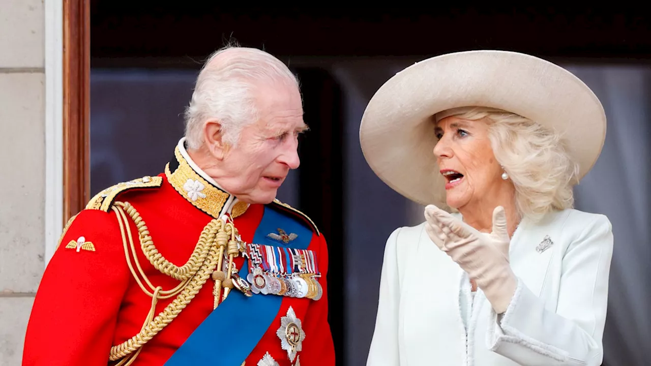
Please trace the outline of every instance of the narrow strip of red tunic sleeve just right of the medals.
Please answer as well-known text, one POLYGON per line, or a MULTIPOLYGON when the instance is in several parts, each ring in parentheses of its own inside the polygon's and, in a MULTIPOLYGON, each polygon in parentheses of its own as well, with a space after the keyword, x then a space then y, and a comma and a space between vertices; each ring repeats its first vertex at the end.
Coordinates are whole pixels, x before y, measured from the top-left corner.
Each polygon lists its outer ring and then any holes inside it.
MULTIPOLYGON (((316 236, 316 235, 315 235, 316 236)), ((327 321, 327 267, 328 253, 326 238, 323 234, 316 236, 319 246, 317 251, 318 266, 321 272, 319 283, 323 287, 323 295, 320 300, 312 301, 305 316, 305 342, 303 350, 299 352, 301 365, 335 365, 335 345, 330 331, 330 324, 327 321), (307 339, 311 337, 311 339, 307 339)))

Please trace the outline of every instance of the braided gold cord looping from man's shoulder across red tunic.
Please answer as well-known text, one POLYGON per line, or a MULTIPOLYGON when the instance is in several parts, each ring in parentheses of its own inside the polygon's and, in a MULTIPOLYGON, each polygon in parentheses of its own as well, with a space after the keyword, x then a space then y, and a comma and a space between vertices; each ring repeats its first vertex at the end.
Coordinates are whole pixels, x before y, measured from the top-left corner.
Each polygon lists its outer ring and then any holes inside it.
POLYGON ((222 286, 225 292, 223 298, 226 298, 229 290, 233 287, 230 275, 233 257, 237 257, 239 254, 238 241, 236 240, 238 232, 232 222, 225 222, 223 219, 212 219, 201 232, 197 246, 195 246, 195 250, 186 264, 179 267, 169 262, 158 252, 149 234, 149 230, 145 225, 145 221, 143 221, 140 214, 131 204, 116 202, 111 206, 111 209, 115 212, 118 223, 120 224, 124 255, 126 256, 126 261, 133 278, 143 292, 152 298, 152 307, 145 318, 145 323, 140 333, 120 345, 111 347, 109 361, 121 359, 117 363, 117 366, 128 366, 135 361, 143 345, 150 341, 159 331, 163 330, 167 324, 172 322, 187 304, 189 304, 211 275, 215 280, 213 290, 215 297, 214 307, 216 308, 219 305, 219 294, 221 294, 222 286), (143 268, 138 262, 127 215, 137 227, 141 249, 152 266, 161 273, 180 281, 174 289, 163 290, 159 286, 154 287, 146 277, 143 268), (227 272, 223 272, 224 251, 229 255, 229 270, 227 272), (135 268, 133 268, 130 256, 133 256, 135 268), (215 268, 218 270, 215 271, 215 268), (161 313, 154 317, 158 300, 173 296, 176 296, 176 298, 161 313))

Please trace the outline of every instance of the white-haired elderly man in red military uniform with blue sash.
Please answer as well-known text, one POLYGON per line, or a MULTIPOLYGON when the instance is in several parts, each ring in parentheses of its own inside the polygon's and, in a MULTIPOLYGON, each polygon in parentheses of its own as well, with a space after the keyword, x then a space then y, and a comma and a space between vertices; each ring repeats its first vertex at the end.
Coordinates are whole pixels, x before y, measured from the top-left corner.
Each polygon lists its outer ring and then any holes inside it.
POLYGON ((281 61, 212 55, 164 172, 98 193, 66 225, 23 365, 334 365, 326 240, 275 200, 306 128, 281 61))

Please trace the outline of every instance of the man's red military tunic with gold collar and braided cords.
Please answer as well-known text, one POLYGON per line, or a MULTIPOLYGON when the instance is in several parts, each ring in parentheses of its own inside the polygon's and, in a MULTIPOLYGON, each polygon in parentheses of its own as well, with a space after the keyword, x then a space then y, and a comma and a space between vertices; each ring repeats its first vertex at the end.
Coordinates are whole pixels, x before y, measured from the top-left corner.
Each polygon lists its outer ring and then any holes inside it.
MULTIPOLYGON (((312 300, 282 296, 275 319, 259 339, 253 339, 255 347, 250 352, 247 350, 248 356, 238 359, 237 365, 255 366, 258 362, 268 362, 261 365, 334 365, 333 341, 327 323, 328 257, 323 235, 309 218, 285 204, 275 201, 269 205, 248 205, 238 201, 191 162, 182 144, 176 148, 175 157, 165 173, 118 184, 98 193, 68 223, 36 294, 27 327, 23 365, 114 365, 130 358, 133 358, 131 365, 163 365, 214 311, 215 303, 215 281, 210 278, 214 266, 202 272, 204 279, 207 277, 202 285, 201 276, 192 277, 195 294, 184 292, 191 287, 187 285, 165 298, 165 292, 161 291, 173 290, 184 283, 169 274, 175 270, 179 274, 189 259, 201 258, 197 253, 193 256, 193 251, 204 227, 211 221, 230 213, 242 241, 251 243, 265 210, 270 209, 309 228, 311 238, 307 249, 314 255, 320 271, 322 297, 312 300), (137 213, 130 211, 132 208, 137 213), (124 228, 128 225, 129 230, 120 227, 120 222, 124 228), (139 275, 139 268, 146 279, 139 275), (154 311, 150 311, 157 287, 159 300, 154 311), (296 327, 282 328, 287 325, 283 317, 291 313, 290 307, 301 324, 298 331, 304 333, 294 357, 290 357, 286 345, 283 349, 287 340, 282 339, 286 330, 286 337, 299 340, 296 327), (156 322, 157 315, 163 319, 156 322), (143 324, 154 326, 145 329, 143 324)), ((279 238, 270 234, 270 238, 279 238)), ((292 234, 284 232, 286 242, 292 234)), ((277 242, 279 247, 283 246, 282 239, 277 242)), ((197 263, 199 266, 201 261, 197 263)), ((206 267, 208 261, 203 263, 206 267)), ((245 265, 241 253, 234 258, 234 265, 237 271, 245 265)), ((195 272, 198 274, 201 268, 195 272)), ((191 279, 186 282, 192 284, 191 279)), ((234 287, 230 291, 238 289, 234 287)), ((222 290, 220 299, 223 293, 222 290)), ((219 306, 228 303, 234 295, 230 294, 219 306)), ((247 316, 236 312, 223 318, 244 324, 247 316)), ((238 342, 250 341, 245 339, 248 335, 238 335, 236 330, 236 326, 217 327, 214 333, 219 341, 205 352, 219 360, 238 342)))

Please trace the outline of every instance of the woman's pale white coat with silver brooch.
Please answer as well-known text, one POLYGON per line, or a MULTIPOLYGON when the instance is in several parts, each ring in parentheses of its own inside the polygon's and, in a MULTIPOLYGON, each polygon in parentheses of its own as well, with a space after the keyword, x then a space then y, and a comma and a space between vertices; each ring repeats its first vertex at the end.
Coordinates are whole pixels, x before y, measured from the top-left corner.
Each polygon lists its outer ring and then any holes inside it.
POLYGON ((480 289, 471 297, 467 275, 424 225, 387 240, 367 366, 602 364, 613 254, 605 216, 523 219, 510 244, 518 287, 499 317, 480 289))

